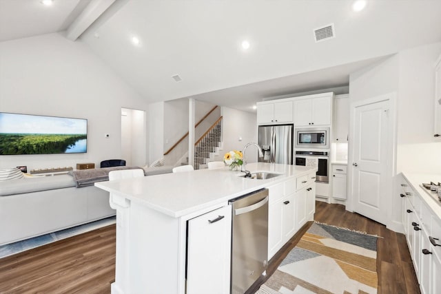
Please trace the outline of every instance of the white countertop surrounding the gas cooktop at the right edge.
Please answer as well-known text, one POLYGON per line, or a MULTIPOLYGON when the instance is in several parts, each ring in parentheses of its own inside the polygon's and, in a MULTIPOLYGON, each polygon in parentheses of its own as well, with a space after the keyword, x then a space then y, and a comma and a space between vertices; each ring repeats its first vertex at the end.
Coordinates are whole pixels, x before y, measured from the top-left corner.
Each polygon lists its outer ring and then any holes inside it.
POLYGON ((409 174, 402 173, 404 178, 409 182, 412 189, 420 194, 422 200, 427 203, 427 206, 436 213, 438 218, 441 219, 441 201, 438 200, 436 193, 429 191, 420 185, 422 183, 441 182, 441 174, 409 174))

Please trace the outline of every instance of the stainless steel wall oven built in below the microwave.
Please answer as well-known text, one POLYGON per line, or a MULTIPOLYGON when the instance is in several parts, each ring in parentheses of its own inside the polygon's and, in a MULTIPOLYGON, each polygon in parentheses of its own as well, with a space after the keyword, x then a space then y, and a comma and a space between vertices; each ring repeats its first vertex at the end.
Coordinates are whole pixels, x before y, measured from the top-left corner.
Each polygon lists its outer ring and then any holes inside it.
POLYGON ((317 167, 316 182, 329 182, 329 153, 322 151, 296 151, 296 165, 317 167))

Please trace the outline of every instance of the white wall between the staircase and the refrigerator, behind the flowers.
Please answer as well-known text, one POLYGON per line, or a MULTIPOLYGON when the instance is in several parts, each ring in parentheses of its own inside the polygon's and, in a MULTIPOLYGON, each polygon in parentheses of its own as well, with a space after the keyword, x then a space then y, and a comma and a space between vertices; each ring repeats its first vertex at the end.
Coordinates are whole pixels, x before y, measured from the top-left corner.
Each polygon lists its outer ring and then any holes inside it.
MULTIPOLYGON (((257 143, 257 116, 250 112, 222 107, 223 116, 223 152, 243 150, 250 142, 257 143), (240 140, 241 138, 241 140, 240 140)), ((223 160, 222 158, 219 160, 223 160)), ((257 162, 257 149, 247 148, 247 162, 257 162)))

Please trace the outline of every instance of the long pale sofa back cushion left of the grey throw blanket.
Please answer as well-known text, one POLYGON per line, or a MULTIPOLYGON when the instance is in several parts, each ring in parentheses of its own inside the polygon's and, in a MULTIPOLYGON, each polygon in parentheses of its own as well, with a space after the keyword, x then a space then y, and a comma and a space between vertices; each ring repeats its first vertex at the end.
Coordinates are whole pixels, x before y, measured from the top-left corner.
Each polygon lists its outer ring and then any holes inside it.
POLYGON ((69 176, 67 174, 58 176, 21 178, 1 182, 0 196, 9 196, 14 194, 38 192, 68 187, 75 187, 75 182, 72 176, 69 176))

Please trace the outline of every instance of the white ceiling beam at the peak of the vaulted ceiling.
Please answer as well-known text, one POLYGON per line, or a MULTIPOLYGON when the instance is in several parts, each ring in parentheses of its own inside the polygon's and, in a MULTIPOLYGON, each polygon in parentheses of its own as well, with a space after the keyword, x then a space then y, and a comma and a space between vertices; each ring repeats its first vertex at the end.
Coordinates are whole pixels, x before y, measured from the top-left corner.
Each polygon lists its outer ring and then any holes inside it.
POLYGON ((79 17, 69 26, 66 38, 71 41, 78 39, 85 30, 89 28, 96 19, 100 17, 115 0, 92 0, 89 5, 81 12, 79 17))

